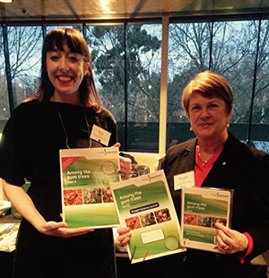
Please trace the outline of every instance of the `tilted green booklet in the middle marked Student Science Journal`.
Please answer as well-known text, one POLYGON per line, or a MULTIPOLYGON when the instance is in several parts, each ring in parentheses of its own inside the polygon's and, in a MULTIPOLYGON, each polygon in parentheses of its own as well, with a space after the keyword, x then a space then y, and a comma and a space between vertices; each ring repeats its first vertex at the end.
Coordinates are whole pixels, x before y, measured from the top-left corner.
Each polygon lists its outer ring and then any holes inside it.
POLYGON ((111 186, 122 227, 131 230, 131 263, 185 251, 180 226, 163 170, 111 186))

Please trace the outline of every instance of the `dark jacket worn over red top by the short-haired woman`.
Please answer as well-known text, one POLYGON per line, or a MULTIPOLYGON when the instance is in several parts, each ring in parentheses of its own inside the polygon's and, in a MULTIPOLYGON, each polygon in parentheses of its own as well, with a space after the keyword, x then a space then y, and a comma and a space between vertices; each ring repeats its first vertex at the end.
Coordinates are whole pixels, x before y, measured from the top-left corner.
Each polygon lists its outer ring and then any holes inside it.
MULTIPOLYGON (((180 219, 180 190, 174 176, 195 169, 197 140, 169 148, 164 171, 180 219)), ((229 133, 223 151, 204 179, 202 187, 234 189, 231 229, 247 231, 254 240, 248 259, 269 249, 269 155, 248 147, 229 133)))

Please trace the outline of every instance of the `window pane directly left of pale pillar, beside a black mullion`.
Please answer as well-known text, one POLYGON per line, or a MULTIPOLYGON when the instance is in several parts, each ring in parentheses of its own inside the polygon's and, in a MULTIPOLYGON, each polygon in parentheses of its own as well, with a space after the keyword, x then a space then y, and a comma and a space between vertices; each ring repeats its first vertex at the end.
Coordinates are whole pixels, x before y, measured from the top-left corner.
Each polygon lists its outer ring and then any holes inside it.
POLYGON ((128 25, 128 151, 158 152, 161 24, 128 25))

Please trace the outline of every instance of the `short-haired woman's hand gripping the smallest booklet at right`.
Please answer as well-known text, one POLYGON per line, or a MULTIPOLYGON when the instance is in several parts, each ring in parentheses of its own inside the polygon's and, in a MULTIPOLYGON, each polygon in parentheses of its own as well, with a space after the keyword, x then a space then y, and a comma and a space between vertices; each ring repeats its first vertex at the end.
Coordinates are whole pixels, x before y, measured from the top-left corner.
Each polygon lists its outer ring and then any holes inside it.
POLYGON ((247 250, 248 240, 247 237, 237 230, 216 223, 217 228, 217 247, 218 249, 227 254, 243 252, 247 250))

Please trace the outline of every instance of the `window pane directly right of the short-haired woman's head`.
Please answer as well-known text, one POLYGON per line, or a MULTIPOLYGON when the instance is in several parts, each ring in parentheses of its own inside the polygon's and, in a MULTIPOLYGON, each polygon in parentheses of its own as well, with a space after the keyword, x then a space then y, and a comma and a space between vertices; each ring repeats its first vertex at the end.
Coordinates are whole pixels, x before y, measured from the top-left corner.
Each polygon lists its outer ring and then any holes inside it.
POLYGON ((256 21, 214 22, 212 70, 223 75, 234 94, 230 131, 246 140, 255 72, 256 21))

